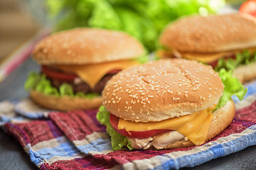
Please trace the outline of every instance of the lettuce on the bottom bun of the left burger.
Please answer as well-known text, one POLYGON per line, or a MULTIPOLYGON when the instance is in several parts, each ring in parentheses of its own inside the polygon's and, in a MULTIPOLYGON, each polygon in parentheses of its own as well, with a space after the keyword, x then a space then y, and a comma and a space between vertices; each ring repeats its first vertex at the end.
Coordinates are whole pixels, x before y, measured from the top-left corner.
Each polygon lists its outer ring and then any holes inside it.
POLYGON ((69 84, 61 84, 59 90, 51 86, 50 80, 46 78, 45 74, 38 74, 36 72, 31 72, 28 75, 28 79, 24 84, 24 88, 28 90, 36 90, 46 95, 54 96, 71 96, 71 97, 82 97, 82 98, 94 98, 100 96, 96 93, 85 94, 83 92, 78 92, 74 94, 72 86, 69 84))

